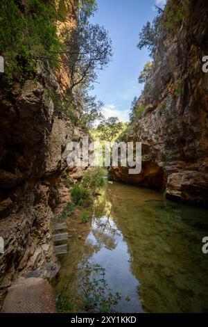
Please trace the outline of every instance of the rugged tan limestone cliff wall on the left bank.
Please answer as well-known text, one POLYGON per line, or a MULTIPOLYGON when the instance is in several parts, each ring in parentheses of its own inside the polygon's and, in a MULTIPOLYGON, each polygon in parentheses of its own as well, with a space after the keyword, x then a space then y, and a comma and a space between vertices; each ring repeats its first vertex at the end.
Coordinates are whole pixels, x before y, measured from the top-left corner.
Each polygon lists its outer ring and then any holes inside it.
POLYGON ((67 70, 51 70, 42 61, 33 80, 11 86, 1 75, 0 306, 3 292, 28 271, 44 269, 48 277, 57 271, 51 242, 57 185, 67 168, 67 144, 84 134, 55 111, 53 95, 63 98, 69 83, 67 70))

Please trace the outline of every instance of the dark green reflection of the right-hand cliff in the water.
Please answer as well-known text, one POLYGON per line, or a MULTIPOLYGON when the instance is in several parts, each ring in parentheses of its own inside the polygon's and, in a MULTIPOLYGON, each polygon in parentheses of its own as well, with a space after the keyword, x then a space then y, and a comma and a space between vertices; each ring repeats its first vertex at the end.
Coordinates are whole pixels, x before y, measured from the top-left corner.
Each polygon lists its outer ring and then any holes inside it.
POLYGON ((111 216, 141 283, 144 311, 207 312, 208 257, 202 254, 207 211, 149 197, 153 191, 122 184, 107 189, 111 216))

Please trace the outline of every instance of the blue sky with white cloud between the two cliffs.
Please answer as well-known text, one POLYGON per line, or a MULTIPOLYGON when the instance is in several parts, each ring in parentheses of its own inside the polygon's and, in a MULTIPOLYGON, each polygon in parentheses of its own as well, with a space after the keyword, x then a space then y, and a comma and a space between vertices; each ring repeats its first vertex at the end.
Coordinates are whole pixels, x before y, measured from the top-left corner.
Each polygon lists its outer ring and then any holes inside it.
POLYGON ((104 102, 105 117, 118 116, 128 121, 130 104, 144 86, 138 83, 139 72, 150 59, 147 49, 139 50, 139 32, 152 21, 154 5, 162 6, 165 0, 97 0, 98 12, 90 19, 107 29, 112 39, 113 57, 98 76, 93 95, 104 102))

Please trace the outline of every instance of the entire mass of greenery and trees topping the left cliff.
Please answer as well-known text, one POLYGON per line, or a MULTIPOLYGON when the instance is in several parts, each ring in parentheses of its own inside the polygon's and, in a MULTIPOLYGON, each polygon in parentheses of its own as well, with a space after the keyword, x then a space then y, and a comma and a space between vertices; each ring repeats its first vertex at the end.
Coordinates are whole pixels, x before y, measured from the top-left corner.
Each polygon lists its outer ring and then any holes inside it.
POLYGON ((95 0, 75 1, 74 5, 69 2, 2 0, 0 54, 5 59, 10 84, 12 80, 37 78, 38 61, 42 61, 46 73, 49 64, 52 68, 67 66, 70 86, 64 99, 51 90, 45 92, 52 98, 56 113, 63 112, 73 125, 89 129, 101 118, 103 103, 89 96, 88 90, 96 81, 98 70, 110 61, 111 40, 103 26, 89 24, 89 17, 97 8, 95 0), (70 15, 77 19, 76 29, 65 29, 60 35, 57 23, 67 22, 70 15))

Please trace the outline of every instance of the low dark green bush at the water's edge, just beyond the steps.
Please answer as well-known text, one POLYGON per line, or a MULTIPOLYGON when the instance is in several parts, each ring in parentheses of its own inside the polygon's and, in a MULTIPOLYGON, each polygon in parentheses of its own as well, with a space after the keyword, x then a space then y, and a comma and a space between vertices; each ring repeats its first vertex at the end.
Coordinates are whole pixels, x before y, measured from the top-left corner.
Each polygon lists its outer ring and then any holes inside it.
POLYGON ((89 207, 90 203, 92 202, 92 196, 90 192, 78 184, 73 186, 73 189, 71 190, 71 196, 73 203, 80 207, 89 207))

